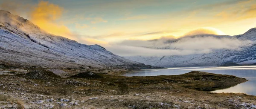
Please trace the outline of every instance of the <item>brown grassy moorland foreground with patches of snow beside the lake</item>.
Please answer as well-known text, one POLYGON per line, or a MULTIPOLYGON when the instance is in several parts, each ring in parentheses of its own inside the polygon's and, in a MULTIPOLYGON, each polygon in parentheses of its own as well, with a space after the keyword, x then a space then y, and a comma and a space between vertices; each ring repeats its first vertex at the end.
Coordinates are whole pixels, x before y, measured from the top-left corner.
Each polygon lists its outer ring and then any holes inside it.
POLYGON ((62 78, 36 69, 0 76, 0 109, 253 109, 256 96, 206 92, 246 81, 199 71, 149 77, 82 72, 62 78))

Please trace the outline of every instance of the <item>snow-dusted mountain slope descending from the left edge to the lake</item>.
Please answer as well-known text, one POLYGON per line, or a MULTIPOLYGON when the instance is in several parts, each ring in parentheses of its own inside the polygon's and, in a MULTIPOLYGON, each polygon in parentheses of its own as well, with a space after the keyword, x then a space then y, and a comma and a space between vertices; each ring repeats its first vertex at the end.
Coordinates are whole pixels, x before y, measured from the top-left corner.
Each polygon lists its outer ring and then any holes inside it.
POLYGON ((3 10, 0 10, 0 64, 58 69, 152 67, 115 55, 99 45, 85 45, 49 34, 29 20, 3 10))

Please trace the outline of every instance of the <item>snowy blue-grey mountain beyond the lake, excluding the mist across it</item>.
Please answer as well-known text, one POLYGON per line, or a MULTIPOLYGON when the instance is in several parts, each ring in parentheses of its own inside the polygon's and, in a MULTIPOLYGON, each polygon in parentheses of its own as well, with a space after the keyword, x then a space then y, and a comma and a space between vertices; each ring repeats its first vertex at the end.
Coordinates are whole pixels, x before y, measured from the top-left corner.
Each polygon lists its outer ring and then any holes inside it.
MULTIPOLYGON (((252 64, 256 63, 256 28, 250 29, 248 32, 236 35, 212 35, 201 34, 189 37, 215 37, 239 40, 248 43, 242 43, 237 49, 213 49, 209 53, 196 53, 188 55, 168 55, 163 56, 128 56, 125 57, 129 60, 134 60, 148 65, 161 66, 161 67, 178 67, 178 66, 220 66, 225 63, 239 63, 239 64, 252 64)), ((175 43, 186 37, 179 39, 166 40, 165 43, 175 43)), ((156 40, 150 40, 156 41, 156 40)), ((217 45, 216 45, 217 46, 217 45)), ((170 47, 151 46, 151 49, 176 49, 170 47)))

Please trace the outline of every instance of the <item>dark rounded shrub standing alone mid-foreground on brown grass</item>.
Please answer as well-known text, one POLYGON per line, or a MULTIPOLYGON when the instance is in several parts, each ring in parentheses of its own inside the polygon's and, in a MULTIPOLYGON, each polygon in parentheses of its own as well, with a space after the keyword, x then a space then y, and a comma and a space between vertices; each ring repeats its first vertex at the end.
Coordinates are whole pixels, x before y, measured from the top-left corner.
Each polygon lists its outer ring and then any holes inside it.
POLYGON ((118 89, 119 89, 119 94, 121 95, 125 95, 129 93, 128 84, 124 78, 118 81, 118 89))

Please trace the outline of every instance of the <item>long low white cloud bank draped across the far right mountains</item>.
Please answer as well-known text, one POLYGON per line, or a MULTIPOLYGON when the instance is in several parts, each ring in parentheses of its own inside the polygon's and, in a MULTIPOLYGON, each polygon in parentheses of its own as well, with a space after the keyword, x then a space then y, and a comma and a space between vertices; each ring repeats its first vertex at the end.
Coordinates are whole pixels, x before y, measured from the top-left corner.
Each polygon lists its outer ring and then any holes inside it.
POLYGON ((194 37, 175 39, 174 36, 163 36, 155 40, 124 40, 121 43, 110 43, 111 46, 106 48, 121 56, 163 56, 210 53, 216 49, 239 50, 241 46, 252 44, 249 40, 238 40, 231 36, 216 37, 211 35, 215 31, 206 30, 188 32, 189 35, 197 34, 194 37))

